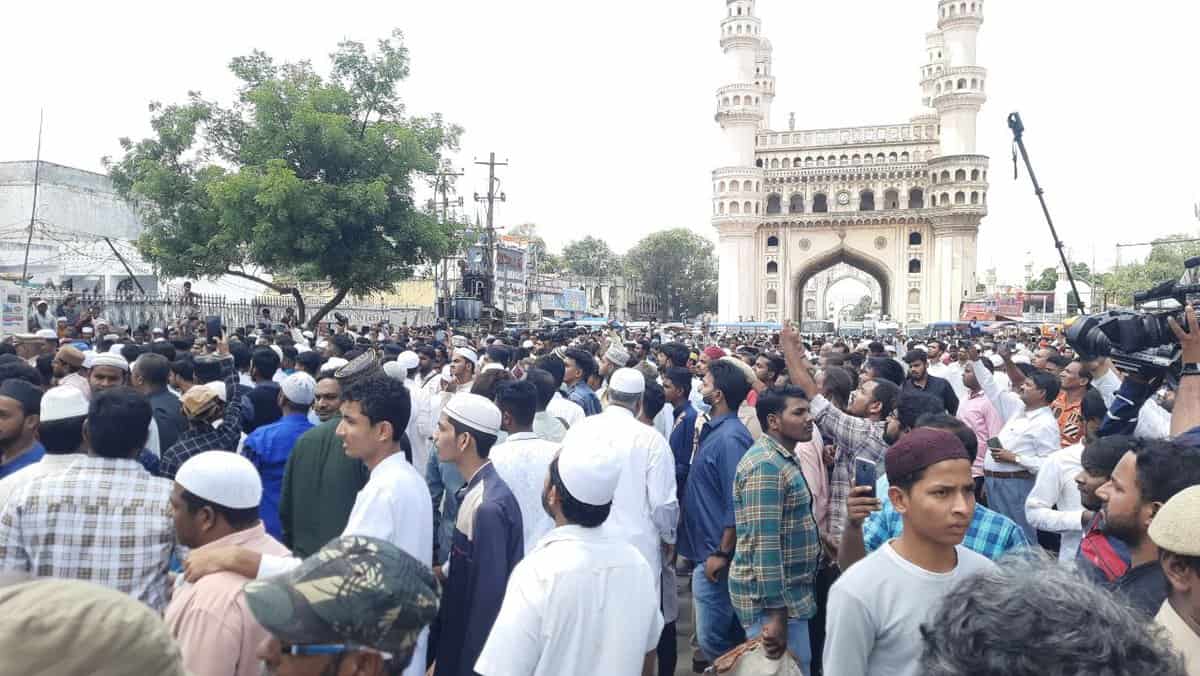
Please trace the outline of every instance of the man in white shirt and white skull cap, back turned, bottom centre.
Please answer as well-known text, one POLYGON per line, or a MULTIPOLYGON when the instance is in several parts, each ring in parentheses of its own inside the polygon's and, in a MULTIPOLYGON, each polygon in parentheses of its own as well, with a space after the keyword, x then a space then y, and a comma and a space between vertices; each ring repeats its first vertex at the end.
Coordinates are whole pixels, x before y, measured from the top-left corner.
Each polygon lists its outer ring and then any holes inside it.
POLYGON ((590 442, 568 435, 550 465, 542 504, 556 527, 512 572, 474 665, 482 676, 642 674, 652 664, 664 627, 659 576, 606 524, 624 471, 590 442))

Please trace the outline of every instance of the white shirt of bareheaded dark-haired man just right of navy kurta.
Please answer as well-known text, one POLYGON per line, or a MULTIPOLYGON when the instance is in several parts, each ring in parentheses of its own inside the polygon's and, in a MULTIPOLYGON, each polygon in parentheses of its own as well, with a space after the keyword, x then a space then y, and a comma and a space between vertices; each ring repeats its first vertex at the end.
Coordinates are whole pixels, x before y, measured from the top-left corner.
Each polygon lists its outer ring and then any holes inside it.
POLYGON ((510 435, 504 443, 492 447, 492 451, 487 454, 496 473, 509 485, 512 497, 517 498, 526 555, 554 527, 553 519, 541 505, 541 493, 546 487, 546 477, 550 475, 550 462, 554 460, 559 448, 559 444, 533 432, 517 432, 510 435))

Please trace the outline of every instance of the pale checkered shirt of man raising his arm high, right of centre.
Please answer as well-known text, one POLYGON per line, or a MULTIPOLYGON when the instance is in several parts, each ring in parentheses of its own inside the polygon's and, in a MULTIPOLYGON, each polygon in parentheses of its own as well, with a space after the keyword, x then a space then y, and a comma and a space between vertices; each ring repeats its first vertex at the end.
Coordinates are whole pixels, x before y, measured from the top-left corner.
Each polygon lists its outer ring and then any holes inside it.
POLYGON ((829 537, 841 544, 846 527, 846 498, 854 479, 854 459, 864 457, 878 465, 888 450, 883 441, 883 420, 868 420, 838 409, 817 395, 812 399, 812 415, 821 436, 836 449, 829 477, 829 537))

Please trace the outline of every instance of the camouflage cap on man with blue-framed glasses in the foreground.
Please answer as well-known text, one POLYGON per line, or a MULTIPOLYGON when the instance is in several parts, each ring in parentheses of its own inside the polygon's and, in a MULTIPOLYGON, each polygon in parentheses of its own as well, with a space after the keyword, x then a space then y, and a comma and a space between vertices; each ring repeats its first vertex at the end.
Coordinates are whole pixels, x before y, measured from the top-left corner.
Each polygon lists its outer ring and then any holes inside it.
POLYGON ((343 536, 298 568, 247 582, 254 618, 281 641, 358 644, 397 659, 438 614, 438 585, 428 566, 396 545, 343 536))

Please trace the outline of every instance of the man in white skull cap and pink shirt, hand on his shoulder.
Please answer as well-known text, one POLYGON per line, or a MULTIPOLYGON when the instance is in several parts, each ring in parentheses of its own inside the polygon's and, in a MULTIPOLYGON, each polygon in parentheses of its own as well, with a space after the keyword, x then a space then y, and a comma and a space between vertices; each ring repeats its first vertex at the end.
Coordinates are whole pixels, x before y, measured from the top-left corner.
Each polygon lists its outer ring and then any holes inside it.
MULTIPOLYGON (((256 430, 257 431, 257 430, 256 430)), ((263 484, 250 460, 226 450, 190 457, 170 493, 179 543, 193 551, 228 545, 287 556, 259 520, 263 484)), ((256 676, 258 644, 268 633, 241 592, 246 578, 209 575, 176 590, 164 621, 179 644, 184 668, 197 676, 256 676)))

